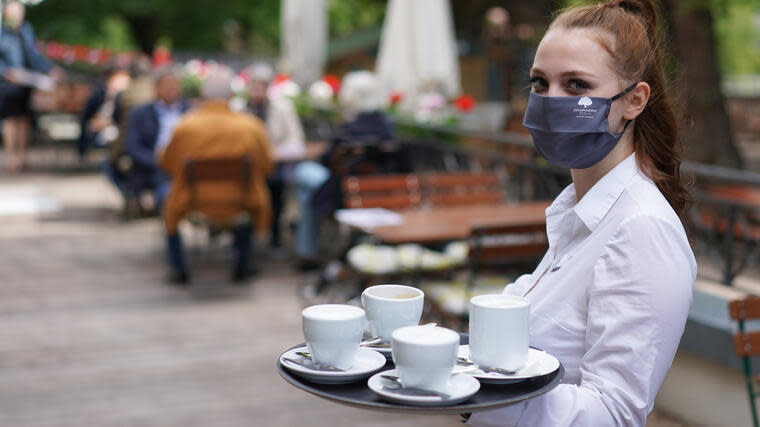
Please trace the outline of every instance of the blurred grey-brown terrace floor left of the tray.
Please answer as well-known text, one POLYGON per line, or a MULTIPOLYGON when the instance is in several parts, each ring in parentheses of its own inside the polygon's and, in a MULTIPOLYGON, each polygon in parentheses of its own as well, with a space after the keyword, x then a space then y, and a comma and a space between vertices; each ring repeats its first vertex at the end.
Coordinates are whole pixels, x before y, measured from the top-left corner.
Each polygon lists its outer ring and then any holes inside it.
POLYGON ((0 211, 32 199, 60 210, 0 215, 0 426, 460 425, 349 409, 282 381, 276 357, 301 340, 301 277, 283 261, 241 289, 223 253, 196 252, 195 288, 177 289, 164 283, 159 223, 120 221, 99 175, 0 178, 0 211))

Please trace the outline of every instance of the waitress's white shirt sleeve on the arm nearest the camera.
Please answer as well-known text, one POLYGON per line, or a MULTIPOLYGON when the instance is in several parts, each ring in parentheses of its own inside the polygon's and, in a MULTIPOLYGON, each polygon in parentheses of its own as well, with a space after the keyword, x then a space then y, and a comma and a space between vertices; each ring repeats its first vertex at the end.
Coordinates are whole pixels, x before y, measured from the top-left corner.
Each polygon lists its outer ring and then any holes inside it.
POLYGON ((579 385, 502 410, 475 426, 644 426, 691 306, 696 264, 683 230, 639 215, 594 264, 579 385))

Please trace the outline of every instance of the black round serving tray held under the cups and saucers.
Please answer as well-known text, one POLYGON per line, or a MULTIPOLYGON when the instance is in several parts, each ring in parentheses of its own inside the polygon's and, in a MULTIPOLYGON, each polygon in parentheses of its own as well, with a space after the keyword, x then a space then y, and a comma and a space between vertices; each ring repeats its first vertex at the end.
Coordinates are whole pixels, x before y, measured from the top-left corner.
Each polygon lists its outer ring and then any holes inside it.
MULTIPOLYGON (((468 341, 467 335, 461 337, 462 344, 467 344, 468 341)), ((301 345, 303 344, 291 348, 301 345)), ((393 368, 393 362, 389 360, 382 370, 393 368)), ((367 387, 366 379, 349 384, 313 383, 293 375, 282 366, 279 357, 277 358, 277 372, 279 372, 285 381, 301 390, 342 405, 380 411, 442 415, 501 408, 539 396, 553 389, 562 381, 562 377, 565 375, 565 368, 560 363, 559 369, 550 374, 514 384, 495 385, 481 383, 480 390, 470 399, 458 405, 449 406, 412 406, 387 402, 367 387)))

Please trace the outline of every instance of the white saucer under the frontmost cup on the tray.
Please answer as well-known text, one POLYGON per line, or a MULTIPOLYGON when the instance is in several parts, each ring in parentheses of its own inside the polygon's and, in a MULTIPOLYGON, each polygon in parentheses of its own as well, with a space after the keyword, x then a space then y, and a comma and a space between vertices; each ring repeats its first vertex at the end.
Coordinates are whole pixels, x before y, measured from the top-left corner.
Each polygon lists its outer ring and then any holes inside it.
POLYGON ((465 374, 454 374, 449 380, 449 386, 447 390, 441 390, 448 394, 448 399, 442 399, 437 396, 409 396, 406 394, 398 393, 394 389, 385 388, 384 385, 388 383, 388 380, 382 379, 381 375, 395 375, 398 376, 398 371, 391 369, 389 371, 379 372, 367 381, 367 385, 370 390, 374 391, 382 398, 405 405, 414 406, 444 406, 444 405, 456 405, 457 403, 464 402, 469 399, 475 393, 480 390, 480 383, 475 378, 465 374))

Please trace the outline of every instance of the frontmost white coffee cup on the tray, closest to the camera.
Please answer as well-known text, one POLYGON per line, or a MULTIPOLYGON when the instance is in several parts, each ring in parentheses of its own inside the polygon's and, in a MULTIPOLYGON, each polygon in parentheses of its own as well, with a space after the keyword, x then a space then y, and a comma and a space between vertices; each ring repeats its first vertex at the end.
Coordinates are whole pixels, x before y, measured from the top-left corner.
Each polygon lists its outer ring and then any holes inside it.
POLYGON ((446 391, 459 349, 459 334, 438 326, 393 331, 393 363, 405 387, 446 391))

